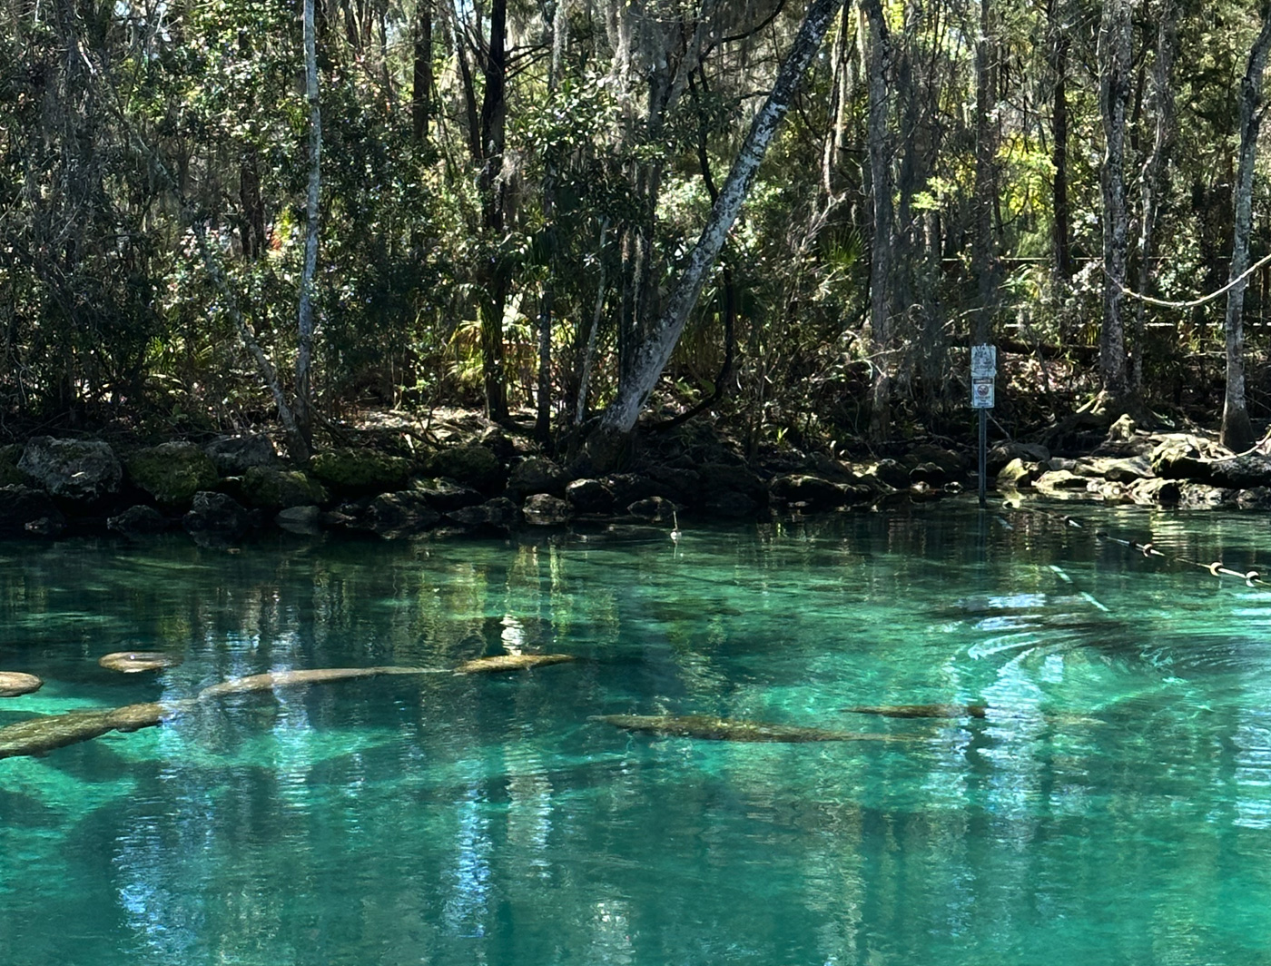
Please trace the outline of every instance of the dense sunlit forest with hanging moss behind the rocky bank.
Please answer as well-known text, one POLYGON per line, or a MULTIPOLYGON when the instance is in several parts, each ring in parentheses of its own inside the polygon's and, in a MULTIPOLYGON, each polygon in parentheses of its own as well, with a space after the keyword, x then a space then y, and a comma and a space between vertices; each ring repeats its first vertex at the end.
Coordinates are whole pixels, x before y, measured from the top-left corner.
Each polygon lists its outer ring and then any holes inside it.
POLYGON ((1229 0, 9 0, 0 428, 833 452, 970 436, 991 342, 1003 432, 1248 449, 1268 46, 1229 0))

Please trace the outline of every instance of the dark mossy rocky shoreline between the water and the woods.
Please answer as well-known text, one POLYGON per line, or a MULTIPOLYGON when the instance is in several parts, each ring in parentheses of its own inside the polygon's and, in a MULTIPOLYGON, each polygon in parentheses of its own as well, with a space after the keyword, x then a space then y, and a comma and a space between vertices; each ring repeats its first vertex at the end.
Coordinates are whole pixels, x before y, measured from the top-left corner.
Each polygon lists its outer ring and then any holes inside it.
MULTIPOLYGON (((933 500, 975 488, 974 454, 921 444, 895 459, 770 452, 747 463, 709 427, 644 444, 622 473, 566 466, 524 436, 466 416, 381 427, 287 465, 263 433, 203 442, 112 445, 36 436, 0 447, 0 536, 130 538, 184 530, 228 544, 301 533, 507 535, 586 522, 758 520, 933 500)), ((1150 433, 1126 419, 1088 455, 1008 442, 989 455, 1007 497, 1177 506, 1271 506, 1271 459, 1224 452, 1196 433, 1150 433)))

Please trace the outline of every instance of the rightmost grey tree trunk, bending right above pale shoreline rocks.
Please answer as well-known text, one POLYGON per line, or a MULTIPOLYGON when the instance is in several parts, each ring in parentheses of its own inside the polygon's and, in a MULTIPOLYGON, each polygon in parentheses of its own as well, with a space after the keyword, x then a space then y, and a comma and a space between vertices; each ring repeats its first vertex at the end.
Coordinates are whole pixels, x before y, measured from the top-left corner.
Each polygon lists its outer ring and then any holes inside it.
POLYGON ((1235 174, 1235 239, 1232 244, 1232 289, 1227 294, 1227 398, 1223 403, 1220 442, 1229 450, 1253 445, 1253 427, 1244 404, 1244 275, 1249 262, 1249 225, 1253 220, 1253 163, 1257 155, 1258 127, 1262 125, 1262 74, 1271 47, 1271 4, 1262 4, 1262 29, 1258 31, 1249 64, 1240 80, 1240 155, 1235 174))

